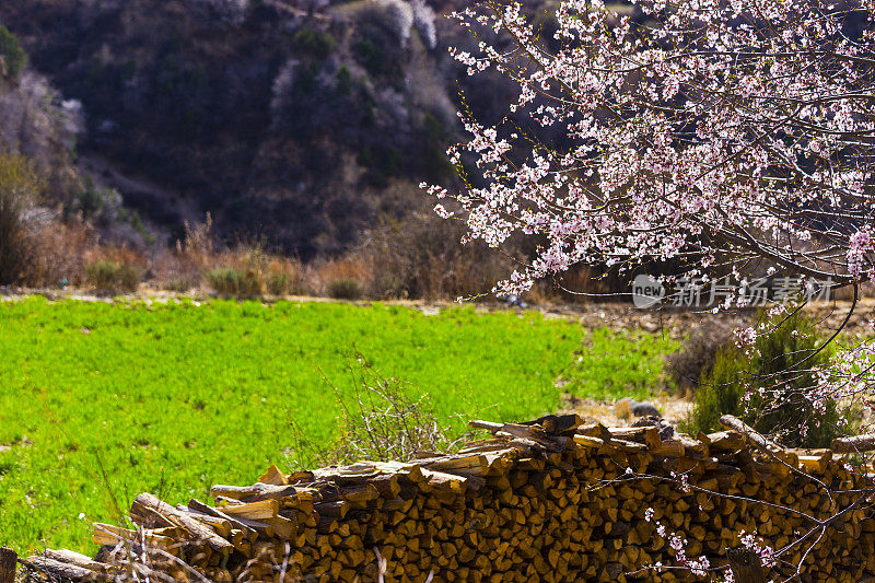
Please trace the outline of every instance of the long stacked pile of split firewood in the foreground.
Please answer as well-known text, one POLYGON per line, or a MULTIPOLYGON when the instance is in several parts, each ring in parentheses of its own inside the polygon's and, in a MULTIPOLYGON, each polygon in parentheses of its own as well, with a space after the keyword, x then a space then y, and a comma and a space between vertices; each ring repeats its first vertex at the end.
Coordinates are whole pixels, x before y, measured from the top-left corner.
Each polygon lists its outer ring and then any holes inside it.
POLYGON ((695 440, 576 416, 475 421, 492 436, 452 455, 271 466, 253 486, 214 486, 211 504, 140 494, 137 528, 94 525, 98 557, 115 547, 125 561, 47 551, 26 562, 74 581, 698 581, 709 579, 646 569, 679 564, 669 533, 719 567, 742 530, 781 549, 832 517, 767 579, 800 562, 807 581, 875 575, 875 518, 856 492, 871 478, 830 451, 783 450, 724 421, 739 431, 695 440))

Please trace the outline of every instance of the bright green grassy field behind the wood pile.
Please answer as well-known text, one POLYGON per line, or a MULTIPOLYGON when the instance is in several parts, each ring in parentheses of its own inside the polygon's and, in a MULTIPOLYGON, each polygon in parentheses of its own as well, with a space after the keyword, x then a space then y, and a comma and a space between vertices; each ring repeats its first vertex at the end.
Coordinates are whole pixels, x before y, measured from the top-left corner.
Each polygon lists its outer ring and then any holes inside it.
POLYGON ((585 336, 570 320, 472 308, 0 303, 0 544, 92 552, 90 524, 117 521, 114 500, 124 511, 141 491, 179 502, 252 483, 285 463, 292 421, 328 445, 339 411, 323 374, 349 398, 357 353, 428 394, 455 429, 456 412, 555 410, 560 374, 587 394, 627 383, 617 365, 639 370, 629 388, 652 374, 640 338, 599 335, 599 351, 621 354, 611 364, 580 353, 585 336))

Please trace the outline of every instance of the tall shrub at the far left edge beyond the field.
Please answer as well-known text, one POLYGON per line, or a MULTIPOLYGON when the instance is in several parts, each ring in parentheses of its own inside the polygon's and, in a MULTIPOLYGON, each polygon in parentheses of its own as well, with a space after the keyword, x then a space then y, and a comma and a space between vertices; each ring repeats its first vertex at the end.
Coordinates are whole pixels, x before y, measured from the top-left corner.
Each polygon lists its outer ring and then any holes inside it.
POLYGON ((33 258, 33 212, 40 188, 30 160, 0 154, 0 284, 21 281, 33 258))

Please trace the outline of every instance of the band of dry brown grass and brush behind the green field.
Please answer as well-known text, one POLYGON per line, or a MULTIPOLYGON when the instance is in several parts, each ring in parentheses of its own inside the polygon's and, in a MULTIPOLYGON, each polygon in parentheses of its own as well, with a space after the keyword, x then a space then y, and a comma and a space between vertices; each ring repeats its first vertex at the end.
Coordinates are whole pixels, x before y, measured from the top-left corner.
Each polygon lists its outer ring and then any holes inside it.
MULTIPOLYGON (((101 246, 93 230, 80 220, 67 224, 48 220, 33 231, 35 235, 28 238, 33 259, 19 278, 25 285, 51 288, 62 282, 85 285, 89 265, 110 261, 130 266, 152 288, 179 293, 212 291, 223 296, 430 301, 491 296, 494 283, 518 268, 527 255, 513 244, 503 249, 491 249, 482 242, 463 245, 459 240, 464 225, 428 212, 412 213, 401 221, 385 221, 346 255, 307 265, 270 253, 258 241, 238 242, 230 247, 220 245, 209 214, 203 222, 186 224, 184 238, 174 247, 151 253, 101 246)), ((616 280, 578 268, 558 282, 537 285, 529 292, 528 301, 591 302, 593 298, 586 294, 621 288, 616 280)))

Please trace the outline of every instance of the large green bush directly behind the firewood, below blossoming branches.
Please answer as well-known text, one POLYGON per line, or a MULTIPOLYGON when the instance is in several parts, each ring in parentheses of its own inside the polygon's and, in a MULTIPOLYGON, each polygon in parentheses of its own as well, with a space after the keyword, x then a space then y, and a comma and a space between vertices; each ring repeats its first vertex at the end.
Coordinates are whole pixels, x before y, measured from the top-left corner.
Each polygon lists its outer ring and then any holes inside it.
POLYGON ((805 397, 806 389, 817 384, 810 369, 829 360, 827 350, 815 354, 816 350, 814 322, 798 314, 760 336, 750 357, 734 345, 725 347, 702 374, 685 430, 719 429, 720 417, 730 413, 789 446, 829 446, 851 428, 835 401, 817 410, 805 397))

